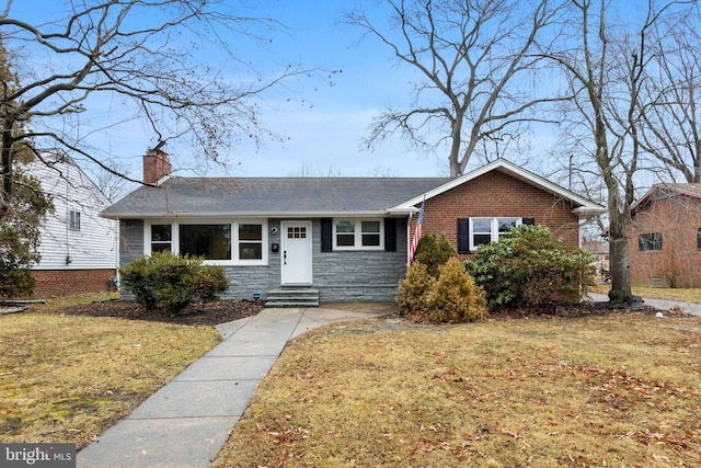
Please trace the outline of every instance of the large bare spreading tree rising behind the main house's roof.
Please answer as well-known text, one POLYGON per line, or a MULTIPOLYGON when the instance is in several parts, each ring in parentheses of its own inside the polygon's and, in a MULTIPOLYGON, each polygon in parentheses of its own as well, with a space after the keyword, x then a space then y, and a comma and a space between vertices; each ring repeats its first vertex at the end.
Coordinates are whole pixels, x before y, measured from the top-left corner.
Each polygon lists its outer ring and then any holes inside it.
POLYGON ((387 28, 359 10, 346 13, 345 21, 364 37, 379 39, 422 81, 414 85, 413 104, 376 118, 368 147, 398 133, 418 147, 445 145, 450 174, 458 176, 482 142, 521 134, 531 122, 550 122, 541 105, 559 99, 551 83, 539 79, 545 64, 535 52, 540 39, 552 41, 548 27, 560 20, 560 7, 547 0, 388 3, 387 28))

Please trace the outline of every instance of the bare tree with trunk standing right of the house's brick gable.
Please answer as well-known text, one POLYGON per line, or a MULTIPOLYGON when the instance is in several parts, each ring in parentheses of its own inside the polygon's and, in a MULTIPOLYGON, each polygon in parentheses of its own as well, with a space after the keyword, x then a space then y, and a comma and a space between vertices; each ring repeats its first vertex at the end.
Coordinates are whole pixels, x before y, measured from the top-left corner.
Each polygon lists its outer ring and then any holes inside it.
POLYGON ((625 227, 635 199, 635 175, 641 160, 640 118, 642 92, 652 55, 650 32, 666 7, 651 0, 646 14, 627 28, 609 23, 609 4, 601 0, 572 0, 571 49, 550 54, 570 77, 574 117, 567 134, 571 150, 590 155, 593 164, 583 169, 597 173, 606 187, 608 238, 611 254, 613 301, 632 297, 629 244, 625 227), (573 138, 579 135, 583 139, 573 138), (593 167, 590 167, 593 165, 593 167))

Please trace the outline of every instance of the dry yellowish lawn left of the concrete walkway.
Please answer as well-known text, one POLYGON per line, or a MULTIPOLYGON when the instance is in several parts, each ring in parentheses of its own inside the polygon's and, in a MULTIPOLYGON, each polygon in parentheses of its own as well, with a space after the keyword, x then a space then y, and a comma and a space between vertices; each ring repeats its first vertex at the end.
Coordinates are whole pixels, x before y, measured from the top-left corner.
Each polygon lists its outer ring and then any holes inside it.
MULTIPOLYGON (((49 301, 49 309, 87 298, 49 301)), ((211 328, 24 312, 0 317, 0 442, 80 448, 219 341, 211 328)))

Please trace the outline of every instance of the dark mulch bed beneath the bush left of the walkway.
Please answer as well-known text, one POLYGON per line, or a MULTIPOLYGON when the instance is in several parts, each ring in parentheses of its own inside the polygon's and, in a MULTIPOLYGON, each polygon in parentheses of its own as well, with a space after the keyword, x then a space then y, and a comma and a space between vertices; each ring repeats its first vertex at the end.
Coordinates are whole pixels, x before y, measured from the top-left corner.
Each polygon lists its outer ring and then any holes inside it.
POLYGON ((265 303, 245 300, 215 300, 191 304, 179 313, 164 308, 147 310, 133 300, 107 300, 61 308, 55 312, 66 316, 117 317, 127 320, 150 320, 186 326, 209 326, 226 323, 255 316, 265 303))

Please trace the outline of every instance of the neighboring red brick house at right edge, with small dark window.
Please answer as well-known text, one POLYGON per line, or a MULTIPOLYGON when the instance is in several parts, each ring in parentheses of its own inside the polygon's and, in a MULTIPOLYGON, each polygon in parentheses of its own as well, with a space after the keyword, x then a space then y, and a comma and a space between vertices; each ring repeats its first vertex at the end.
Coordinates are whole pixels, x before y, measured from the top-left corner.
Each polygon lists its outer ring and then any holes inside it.
POLYGON ((701 287, 701 185, 654 185, 631 207, 631 283, 701 287))

